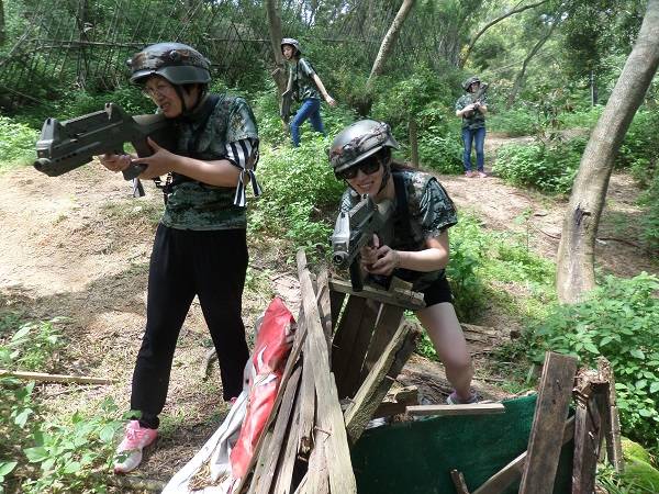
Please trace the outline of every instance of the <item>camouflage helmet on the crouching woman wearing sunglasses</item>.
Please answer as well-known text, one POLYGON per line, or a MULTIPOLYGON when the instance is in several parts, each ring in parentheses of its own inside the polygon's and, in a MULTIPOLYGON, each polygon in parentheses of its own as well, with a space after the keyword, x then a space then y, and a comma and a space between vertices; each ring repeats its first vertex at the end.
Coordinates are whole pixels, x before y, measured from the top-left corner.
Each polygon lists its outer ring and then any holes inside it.
POLYGON ((334 173, 338 173, 386 147, 399 147, 389 124, 376 120, 360 120, 334 137, 328 150, 330 164, 334 173))

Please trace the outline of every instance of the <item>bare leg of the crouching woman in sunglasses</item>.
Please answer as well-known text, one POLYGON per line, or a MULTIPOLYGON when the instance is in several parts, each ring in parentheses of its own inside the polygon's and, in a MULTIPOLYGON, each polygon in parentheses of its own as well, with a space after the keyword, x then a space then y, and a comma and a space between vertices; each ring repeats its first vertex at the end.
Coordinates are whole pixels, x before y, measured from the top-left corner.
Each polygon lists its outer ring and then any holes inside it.
POLYGON ((469 400, 473 367, 453 304, 443 302, 431 305, 418 311, 416 316, 428 332, 435 351, 446 368, 446 377, 455 388, 458 397, 469 400))

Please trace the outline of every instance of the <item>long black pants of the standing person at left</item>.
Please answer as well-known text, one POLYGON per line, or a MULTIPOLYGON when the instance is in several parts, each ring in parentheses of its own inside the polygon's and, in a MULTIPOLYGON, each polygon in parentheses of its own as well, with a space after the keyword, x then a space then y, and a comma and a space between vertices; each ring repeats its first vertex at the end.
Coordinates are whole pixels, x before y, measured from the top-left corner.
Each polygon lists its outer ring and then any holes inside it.
POLYGON ((224 400, 241 394, 249 358, 241 316, 247 270, 245 229, 180 231, 159 225, 148 273, 146 332, 133 373, 131 409, 157 428, 179 332, 199 296, 220 360, 224 400))

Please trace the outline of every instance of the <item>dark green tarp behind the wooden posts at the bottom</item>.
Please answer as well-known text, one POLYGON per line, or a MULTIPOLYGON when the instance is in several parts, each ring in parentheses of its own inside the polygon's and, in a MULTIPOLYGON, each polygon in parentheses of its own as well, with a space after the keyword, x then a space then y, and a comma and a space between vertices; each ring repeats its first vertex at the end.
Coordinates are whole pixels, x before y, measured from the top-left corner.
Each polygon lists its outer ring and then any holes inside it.
MULTIPOLYGON (((504 414, 434 417, 366 430, 351 451, 359 494, 455 494, 453 469, 476 491, 526 450, 536 397, 504 401, 504 414)), ((555 494, 570 493, 572 450, 572 441, 562 449, 555 494)), ((518 485, 506 492, 517 492, 518 485)))

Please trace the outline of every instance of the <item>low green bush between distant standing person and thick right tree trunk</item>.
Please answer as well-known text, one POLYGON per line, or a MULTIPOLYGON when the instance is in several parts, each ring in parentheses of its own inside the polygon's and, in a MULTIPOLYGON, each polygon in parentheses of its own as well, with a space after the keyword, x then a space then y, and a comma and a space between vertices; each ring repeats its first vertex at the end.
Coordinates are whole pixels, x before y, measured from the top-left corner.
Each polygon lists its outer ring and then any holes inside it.
POLYGON ((494 171, 514 186, 533 187, 547 193, 568 193, 584 147, 583 138, 551 145, 503 146, 496 154, 494 171))

